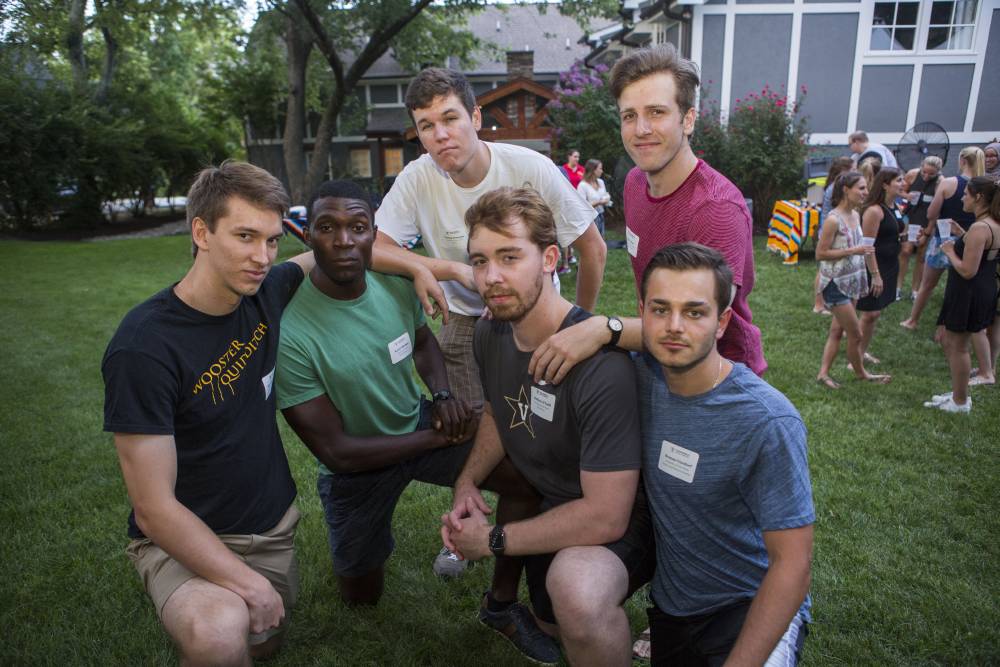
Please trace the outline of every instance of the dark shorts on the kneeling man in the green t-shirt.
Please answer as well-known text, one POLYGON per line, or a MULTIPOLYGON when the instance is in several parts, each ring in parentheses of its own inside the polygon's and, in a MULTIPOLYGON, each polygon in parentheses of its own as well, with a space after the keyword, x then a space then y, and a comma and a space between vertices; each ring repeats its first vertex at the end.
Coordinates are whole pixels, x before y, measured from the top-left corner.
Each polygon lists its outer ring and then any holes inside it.
MULTIPOLYGON (((431 403, 423 401, 417 430, 430 428, 431 403)), ((320 475, 316 481, 333 571, 360 577, 379 567, 396 546, 392 513, 413 480, 452 487, 472 449, 472 440, 442 447, 377 470, 320 475)))

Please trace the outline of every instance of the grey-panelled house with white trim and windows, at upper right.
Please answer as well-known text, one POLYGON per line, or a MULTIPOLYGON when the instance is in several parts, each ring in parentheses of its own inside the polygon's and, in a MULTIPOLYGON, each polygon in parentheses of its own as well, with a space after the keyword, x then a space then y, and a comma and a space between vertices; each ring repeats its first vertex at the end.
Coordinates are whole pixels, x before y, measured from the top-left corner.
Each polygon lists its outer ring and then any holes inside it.
POLYGON ((724 112, 764 85, 806 91, 815 145, 847 134, 896 146, 931 121, 958 148, 1000 135, 1000 0, 625 0, 587 35, 587 62, 670 42, 701 66, 702 103, 724 112))

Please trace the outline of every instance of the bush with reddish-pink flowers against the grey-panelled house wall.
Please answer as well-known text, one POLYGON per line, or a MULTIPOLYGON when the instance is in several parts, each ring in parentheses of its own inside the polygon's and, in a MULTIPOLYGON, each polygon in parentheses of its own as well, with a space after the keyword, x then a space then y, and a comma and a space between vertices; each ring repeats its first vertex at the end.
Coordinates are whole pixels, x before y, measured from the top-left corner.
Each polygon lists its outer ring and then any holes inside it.
POLYGON ((805 194, 809 132, 799 113, 805 96, 805 86, 794 102, 764 86, 759 93, 736 99, 725 123, 717 105, 708 105, 698 116, 691 140, 695 154, 753 200, 757 231, 767 228, 776 200, 805 194))

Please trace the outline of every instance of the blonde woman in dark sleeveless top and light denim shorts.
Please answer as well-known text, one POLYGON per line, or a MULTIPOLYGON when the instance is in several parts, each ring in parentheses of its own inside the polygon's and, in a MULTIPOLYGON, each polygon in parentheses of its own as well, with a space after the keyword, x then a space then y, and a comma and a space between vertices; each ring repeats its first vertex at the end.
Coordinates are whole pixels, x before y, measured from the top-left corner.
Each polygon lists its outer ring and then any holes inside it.
POLYGON ((982 176, 985 172, 983 151, 978 146, 966 146, 958 155, 958 167, 960 171, 958 176, 940 179, 934 191, 934 198, 927 207, 927 225, 923 232, 928 238, 924 275, 920 280, 920 290, 913 300, 910 316, 899 323, 899 326, 910 331, 916 330, 928 299, 937 287, 941 274, 948 268, 948 257, 941 252, 938 219, 954 220, 963 229, 968 229, 974 220, 971 213, 962 210, 962 195, 969 179, 982 176))

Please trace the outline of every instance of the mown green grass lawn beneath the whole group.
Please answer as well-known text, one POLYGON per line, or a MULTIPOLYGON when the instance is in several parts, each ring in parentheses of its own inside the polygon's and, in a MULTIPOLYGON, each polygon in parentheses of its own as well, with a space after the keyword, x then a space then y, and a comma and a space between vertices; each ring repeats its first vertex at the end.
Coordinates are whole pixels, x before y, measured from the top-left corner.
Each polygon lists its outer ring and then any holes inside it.
MULTIPOLYGON (((908 303, 886 311, 871 351, 891 385, 850 380, 841 356, 834 376, 844 388, 818 386, 829 319, 811 312, 815 264, 782 266, 763 244, 751 307, 767 379, 809 428, 817 524, 807 664, 1000 663, 1000 389, 975 388, 967 416, 921 407, 948 388, 930 341, 940 289, 917 333, 897 326, 908 303)), ((176 660, 123 554, 128 500, 101 431, 100 362, 125 312, 183 275, 188 247, 184 237, 0 244, 0 664, 176 660)), ((283 241, 285 255, 298 248, 283 241)), ((609 253, 598 311, 635 311, 626 260, 609 253)), ((430 571, 447 490, 408 489, 382 603, 342 606, 314 462, 283 422, 282 433, 303 514, 302 577, 288 641, 269 664, 520 664, 475 620, 489 566, 451 583, 430 571)), ((629 604, 636 630, 645 606, 629 604)))

